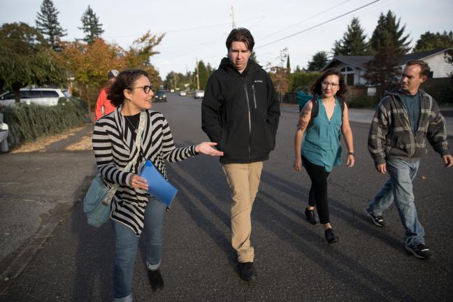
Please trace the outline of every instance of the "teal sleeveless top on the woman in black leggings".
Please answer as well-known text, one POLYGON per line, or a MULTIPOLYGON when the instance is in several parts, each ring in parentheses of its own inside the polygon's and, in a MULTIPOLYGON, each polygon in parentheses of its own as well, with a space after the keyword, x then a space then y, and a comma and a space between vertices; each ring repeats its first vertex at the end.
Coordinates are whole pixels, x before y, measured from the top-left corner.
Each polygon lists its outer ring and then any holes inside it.
POLYGON ((302 143, 302 155, 312 164, 324 166, 331 172, 341 163, 341 108, 335 99, 335 108, 331 120, 327 118, 326 108, 319 100, 318 115, 312 120, 311 127, 305 132, 302 143))

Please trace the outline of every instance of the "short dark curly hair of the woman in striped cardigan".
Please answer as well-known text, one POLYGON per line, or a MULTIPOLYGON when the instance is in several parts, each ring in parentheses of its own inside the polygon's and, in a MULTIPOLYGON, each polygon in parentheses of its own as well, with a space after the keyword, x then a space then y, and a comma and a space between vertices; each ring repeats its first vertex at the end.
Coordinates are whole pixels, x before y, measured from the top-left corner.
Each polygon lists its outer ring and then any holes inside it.
POLYGON ((115 82, 107 89, 107 99, 113 106, 119 107, 124 102, 124 89, 132 90, 134 83, 142 75, 149 78, 148 73, 141 69, 121 71, 115 82))

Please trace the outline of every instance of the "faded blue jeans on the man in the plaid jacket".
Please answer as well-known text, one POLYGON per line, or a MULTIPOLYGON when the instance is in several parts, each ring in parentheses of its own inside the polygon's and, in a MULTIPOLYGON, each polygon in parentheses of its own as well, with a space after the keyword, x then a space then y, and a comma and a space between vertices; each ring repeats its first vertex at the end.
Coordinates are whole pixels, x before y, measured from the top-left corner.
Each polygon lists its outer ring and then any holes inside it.
POLYGON ((392 201, 405 229, 403 240, 406 245, 424 243, 424 229, 417 218, 417 209, 412 192, 412 180, 419 168, 420 161, 408 162, 402 159, 387 160, 387 172, 390 179, 385 183, 375 198, 368 203, 368 213, 382 215, 392 201))

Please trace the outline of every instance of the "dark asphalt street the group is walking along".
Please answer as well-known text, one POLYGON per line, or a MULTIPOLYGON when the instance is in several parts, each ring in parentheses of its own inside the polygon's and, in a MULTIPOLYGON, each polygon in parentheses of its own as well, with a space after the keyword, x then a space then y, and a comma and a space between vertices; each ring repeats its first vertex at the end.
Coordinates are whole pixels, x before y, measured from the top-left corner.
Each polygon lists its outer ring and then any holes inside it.
MULTIPOLYGON (((201 100, 168 94, 168 102, 154 104, 154 110, 168 119, 177 145, 206 140, 201 131, 201 100)), ((254 203, 257 282, 243 282, 237 275, 230 245, 229 187, 218 159, 200 155, 167 165, 168 177, 179 192, 164 227, 161 270, 166 288, 161 293, 151 291, 142 240, 134 301, 453 301, 449 254, 453 168, 443 168, 431 149, 422 160, 414 192, 426 243, 434 255, 428 261, 416 259, 404 250, 403 227, 394 206, 385 213, 387 226, 382 229, 364 214, 366 203, 387 175, 375 172, 366 150, 368 124, 353 122, 357 164, 337 167, 329 178, 331 223, 340 242, 328 245, 322 227, 312 226, 303 217, 310 180, 305 171, 292 170, 295 123, 294 108, 283 107, 277 146, 264 165, 254 203)), ((83 192, 89 172, 94 173, 92 156, 57 150, 50 155, 55 171, 78 158, 71 178, 79 178, 77 187, 83 192)), ((30 177, 40 175, 30 173, 30 177)), ((64 183, 60 189, 65 192, 64 183)), ((68 197, 75 206, 62 216, 22 273, 2 281, 0 301, 111 300, 110 224, 89 227, 78 195, 68 197)))

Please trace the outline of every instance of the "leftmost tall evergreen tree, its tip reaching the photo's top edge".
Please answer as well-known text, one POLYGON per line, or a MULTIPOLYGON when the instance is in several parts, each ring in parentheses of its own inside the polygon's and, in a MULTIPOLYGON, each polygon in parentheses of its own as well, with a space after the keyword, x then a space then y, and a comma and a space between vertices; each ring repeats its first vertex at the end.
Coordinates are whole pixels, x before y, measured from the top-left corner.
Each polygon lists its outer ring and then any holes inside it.
POLYGON ((41 12, 36 15, 36 29, 38 29, 53 50, 61 50, 59 43, 62 36, 66 36, 66 30, 62 29, 58 22, 59 11, 55 8, 52 0, 43 0, 41 12))

